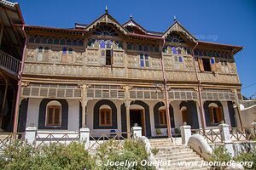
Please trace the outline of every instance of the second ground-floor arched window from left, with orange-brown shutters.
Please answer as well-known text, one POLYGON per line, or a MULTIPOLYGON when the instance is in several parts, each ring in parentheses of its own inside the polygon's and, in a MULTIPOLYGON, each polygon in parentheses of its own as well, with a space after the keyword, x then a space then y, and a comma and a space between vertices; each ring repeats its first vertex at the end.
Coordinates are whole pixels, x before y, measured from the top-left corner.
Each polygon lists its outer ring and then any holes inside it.
POLYGON ((102 127, 112 126, 112 111, 109 105, 102 105, 99 111, 99 125, 102 127))

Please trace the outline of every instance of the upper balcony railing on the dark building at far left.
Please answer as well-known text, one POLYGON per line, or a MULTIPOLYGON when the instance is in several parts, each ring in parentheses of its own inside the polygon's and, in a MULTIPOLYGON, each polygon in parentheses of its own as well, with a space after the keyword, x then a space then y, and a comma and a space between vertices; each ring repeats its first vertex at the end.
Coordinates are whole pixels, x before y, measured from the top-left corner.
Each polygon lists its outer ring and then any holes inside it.
POLYGON ((20 60, 0 50, 0 65, 16 74, 20 71, 20 60))

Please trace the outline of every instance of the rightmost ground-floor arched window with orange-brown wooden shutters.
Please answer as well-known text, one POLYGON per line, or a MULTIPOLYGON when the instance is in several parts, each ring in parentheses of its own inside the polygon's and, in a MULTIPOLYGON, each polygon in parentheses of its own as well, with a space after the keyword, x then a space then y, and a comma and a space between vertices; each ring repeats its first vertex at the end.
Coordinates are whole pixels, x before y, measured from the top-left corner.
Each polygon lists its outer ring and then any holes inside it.
POLYGON ((209 104, 208 108, 209 108, 210 122, 212 124, 220 123, 220 122, 224 121, 224 116, 223 116, 221 106, 218 106, 215 103, 211 103, 211 104, 209 104))

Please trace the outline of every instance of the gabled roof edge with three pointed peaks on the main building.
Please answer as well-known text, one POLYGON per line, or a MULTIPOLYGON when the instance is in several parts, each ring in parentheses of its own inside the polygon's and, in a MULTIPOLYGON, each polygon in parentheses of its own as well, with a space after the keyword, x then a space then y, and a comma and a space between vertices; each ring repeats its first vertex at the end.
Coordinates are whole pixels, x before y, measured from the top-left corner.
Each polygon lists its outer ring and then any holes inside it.
POLYGON ((119 24, 117 20, 113 18, 110 14, 108 14, 108 10, 105 12, 105 14, 102 14, 100 17, 98 17, 95 21, 88 24, 81 24, 81 23, 75 23, 74 28, 54 28, 54 27, 44 27, 44 26, 28 26, 25 25, 28 29, 38 29, 38 30, 51 30, 51 31, 62 31, 66 33, 73 33, 73 34, 80 34, 80 33, 87 33, 91 29, 95 28, 99 23, 102 22, 109 22, 116 26, 119 31, 121 31, 125 36, 130 37, 145 37, 145 38, 153 38, 153 39, 162 39, 164 40, 166 36, 172 32, 176 31, 183 35, 183 37, 187 38, 189 42, 198 42, 198 47, 202 46, 211 46, 212 48, 229 48, 232 50, 234 54, 239 52, 243 47, 236 46, 236 45, 230 45, 230 44, 223 44, 223 43, 217 43, 217 42, 203 42, 200 40, 197 40, 189 31, 185 29, 185 27, 178 22, 176 19, 174 20, 172 26, 170 26, 165 32, 159 32, 159 31, 148 31, 143 26, 139 25, 133 18, 131 17, 130 20, 126 21, 123 25, 119 24), (132 28, 132 29, 131 29, 132 28), (133 30, 133 29, 137 29, 133 30))

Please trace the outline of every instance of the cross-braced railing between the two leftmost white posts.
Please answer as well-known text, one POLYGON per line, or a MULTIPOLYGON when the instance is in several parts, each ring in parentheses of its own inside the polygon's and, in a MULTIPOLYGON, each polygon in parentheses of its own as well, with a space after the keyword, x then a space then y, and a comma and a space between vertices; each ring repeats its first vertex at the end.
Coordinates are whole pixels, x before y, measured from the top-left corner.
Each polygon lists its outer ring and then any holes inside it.
POLYGON ((79 133, 77 132, 38 132, 36 136, 36 148, 48 146, 49 144, 71 144, 79 142, 79 133))

